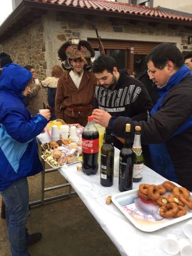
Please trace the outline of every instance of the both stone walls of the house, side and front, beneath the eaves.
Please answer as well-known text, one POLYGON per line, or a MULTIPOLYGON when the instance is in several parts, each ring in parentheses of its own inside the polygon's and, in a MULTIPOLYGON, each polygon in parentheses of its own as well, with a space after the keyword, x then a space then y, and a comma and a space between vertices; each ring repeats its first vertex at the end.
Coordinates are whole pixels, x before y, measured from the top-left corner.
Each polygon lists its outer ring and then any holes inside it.
POLYGON ((192 44, 188 44, 192 30, 184 26, 56 11, 47 12, 12 35, 2 47, 17 64, 33 64, 38 77, 44 79, 50 75, 52 66, 61 65, 59 47, 73 38, 96 38, 95 27, 102 39, 172 42, 181 51, 192 51, 192 44))

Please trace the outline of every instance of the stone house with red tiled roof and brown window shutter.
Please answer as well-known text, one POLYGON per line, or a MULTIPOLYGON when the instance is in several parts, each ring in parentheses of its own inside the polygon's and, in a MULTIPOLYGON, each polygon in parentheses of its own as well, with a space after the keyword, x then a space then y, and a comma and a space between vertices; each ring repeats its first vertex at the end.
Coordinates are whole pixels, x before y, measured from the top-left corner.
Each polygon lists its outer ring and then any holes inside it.
MULTIPOLYGON (((172 42, 192 50, 192 17, 154 7, 106 0, 17 0, 0 26, 3 52, 15 63, 33 64, 38 77, 61 64, 58 48, 72 38, 88 40, 99 55, 95 27, 107 54, 119 68, 145 69, 145 56, 157 44, 172 42)), ((0 49, 1 49, 0 47, 0 49)))

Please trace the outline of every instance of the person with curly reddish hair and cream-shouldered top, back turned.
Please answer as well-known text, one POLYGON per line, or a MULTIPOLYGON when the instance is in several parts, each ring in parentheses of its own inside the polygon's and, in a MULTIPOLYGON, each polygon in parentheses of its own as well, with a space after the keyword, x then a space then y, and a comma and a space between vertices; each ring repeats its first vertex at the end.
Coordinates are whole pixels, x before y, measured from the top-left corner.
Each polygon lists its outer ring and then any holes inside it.
POLYGON ((51 76, 41 81, 44 87, 47 87, 47 102, 51 111, 52 120, 56 119, 55 116, 55 95, 57 90, 58 79, 63 75, 62 67, 55 65, 52 67, 51 76))

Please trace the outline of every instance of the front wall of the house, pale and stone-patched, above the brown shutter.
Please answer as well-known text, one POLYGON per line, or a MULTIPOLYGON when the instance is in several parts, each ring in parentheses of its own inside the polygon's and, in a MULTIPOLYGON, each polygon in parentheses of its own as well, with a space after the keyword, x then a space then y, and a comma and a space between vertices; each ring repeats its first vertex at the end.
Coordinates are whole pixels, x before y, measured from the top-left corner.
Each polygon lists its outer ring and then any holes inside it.
POLYGON ((192 30, 184 26, 164 23, 148 23, 146 21, 129 21, 99 15, 83 15, 67 12, 48 12, 43 17, 45 60, 47 75, 54 64, 61 65, 58 60, 58 48, 65 41, 73 38, 96 38, 95 27, 102 39, 128 40, 144 42, 172 42, 181 51, 191 51, 192 44, 188 44, 188 37, 192 30))

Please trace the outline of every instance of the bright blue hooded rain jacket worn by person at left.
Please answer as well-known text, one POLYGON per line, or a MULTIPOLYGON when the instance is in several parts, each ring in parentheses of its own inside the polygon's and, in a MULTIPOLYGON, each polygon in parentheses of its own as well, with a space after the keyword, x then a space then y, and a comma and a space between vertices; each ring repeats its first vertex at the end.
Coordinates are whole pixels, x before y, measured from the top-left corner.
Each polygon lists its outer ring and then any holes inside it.
POLYGON ((47 119, 40 114, 32 118, 22 95, 31 77, 31 72, 15 63, 4 66, 0 76, 0 190, 42 171, 35 137, 47 119))

